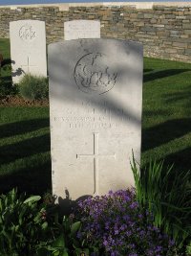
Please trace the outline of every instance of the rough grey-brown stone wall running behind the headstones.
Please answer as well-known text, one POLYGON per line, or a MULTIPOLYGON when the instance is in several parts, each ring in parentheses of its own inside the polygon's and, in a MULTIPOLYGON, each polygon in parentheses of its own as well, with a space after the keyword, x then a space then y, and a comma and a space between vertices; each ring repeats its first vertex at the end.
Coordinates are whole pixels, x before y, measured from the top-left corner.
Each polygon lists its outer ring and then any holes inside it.
POLYGON ((19 19, 46 22, 47 42, 64 39, 64 22, 100 20, 102 38, 140 41, 144 55, 191 62, 191 3, 157 4, 142 9, 132 5, 93 4, 0 8, 0 37, 9 37, 9 23, 19 19))

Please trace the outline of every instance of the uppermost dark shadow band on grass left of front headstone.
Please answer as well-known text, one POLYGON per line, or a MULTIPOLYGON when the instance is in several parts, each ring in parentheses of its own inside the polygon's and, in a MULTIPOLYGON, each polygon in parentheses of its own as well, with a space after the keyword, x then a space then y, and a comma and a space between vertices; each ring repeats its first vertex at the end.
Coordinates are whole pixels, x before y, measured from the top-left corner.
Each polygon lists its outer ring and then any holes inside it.
POLYGON ((39 128, 48 128, 50 126, 49 118, 25 120, 16 123, 0 126, 0 138, 11 137, 34 131, 39 128))

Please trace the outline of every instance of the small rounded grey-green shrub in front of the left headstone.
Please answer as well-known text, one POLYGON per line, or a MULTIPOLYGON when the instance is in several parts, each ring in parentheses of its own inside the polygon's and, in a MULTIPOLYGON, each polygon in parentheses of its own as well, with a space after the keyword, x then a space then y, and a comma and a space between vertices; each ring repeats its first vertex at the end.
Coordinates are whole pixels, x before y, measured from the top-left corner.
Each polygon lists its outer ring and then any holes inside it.
POLYGON ((18 83, 21 96, 26 100, 43 100, 48 99, 49 85, 48 79, 25 75, 18 83))

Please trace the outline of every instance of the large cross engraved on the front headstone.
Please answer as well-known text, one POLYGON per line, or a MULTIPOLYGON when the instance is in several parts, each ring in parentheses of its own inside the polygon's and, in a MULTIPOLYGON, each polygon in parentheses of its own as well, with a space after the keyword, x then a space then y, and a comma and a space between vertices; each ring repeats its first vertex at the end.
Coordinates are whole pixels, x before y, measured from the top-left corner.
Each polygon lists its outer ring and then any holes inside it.
POLYGON ((114 154, 99 154, 98 153, 98 135, 99 135, 99 133, 94 133, 94 153, 93 154, 76 154, 76 158, 80 158, 80 157, 94 158, 94 179, 95 179, 94 196, 98 195, 98 178, 99 178, 98 160, 99 160, 99 157, 113 157, 116 159, 116 153, 114 153, 114 154))

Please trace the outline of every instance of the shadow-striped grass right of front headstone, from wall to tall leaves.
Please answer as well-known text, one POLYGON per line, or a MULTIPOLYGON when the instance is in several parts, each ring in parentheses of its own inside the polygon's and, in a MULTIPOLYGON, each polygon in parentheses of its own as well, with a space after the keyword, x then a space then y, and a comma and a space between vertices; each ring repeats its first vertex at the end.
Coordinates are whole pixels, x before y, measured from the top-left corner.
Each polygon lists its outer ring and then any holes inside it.
POLYGON ((191 168, 191 64, 144 59, 142 163, 191 168))

